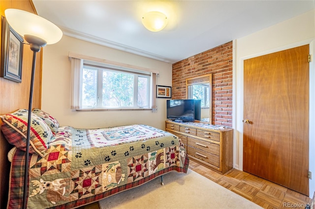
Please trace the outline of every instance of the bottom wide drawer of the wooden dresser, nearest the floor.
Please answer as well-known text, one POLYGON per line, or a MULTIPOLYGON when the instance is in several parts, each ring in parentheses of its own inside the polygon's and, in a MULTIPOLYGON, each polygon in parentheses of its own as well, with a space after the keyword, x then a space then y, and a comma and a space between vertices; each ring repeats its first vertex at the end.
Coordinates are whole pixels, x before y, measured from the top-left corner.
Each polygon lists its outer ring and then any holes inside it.
POLYGON ((195 157, 199 160, 202 160, 206 163, 209 163, 211 165, 214 165, 216 167, 220 167, 220 163, 219 163, 219 156, 217 155, 213 155, 211 153, 207 153, 205 151, 202 151, 202 150, 199 150, 199 149, 196 149, 194 147, 190 147, 188 146, 188 155, 191 156, 191 157, 195 157))

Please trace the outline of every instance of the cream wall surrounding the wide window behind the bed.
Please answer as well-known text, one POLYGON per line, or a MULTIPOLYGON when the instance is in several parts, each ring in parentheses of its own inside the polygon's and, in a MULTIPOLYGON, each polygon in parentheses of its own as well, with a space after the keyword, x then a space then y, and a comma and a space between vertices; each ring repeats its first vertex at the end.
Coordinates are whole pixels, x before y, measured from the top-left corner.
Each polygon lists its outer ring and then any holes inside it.
POLYGON ((103 58, 159 71, 158 84, 172 85, 172 64, 111 49, 69 36, 43 49, 41 109, 56 117, 61 126, 101 128, 146 124, 164 130, 166 99, 158 100, 158 111, 88 111, 70 109, 70 65, 68 52, 103 58))

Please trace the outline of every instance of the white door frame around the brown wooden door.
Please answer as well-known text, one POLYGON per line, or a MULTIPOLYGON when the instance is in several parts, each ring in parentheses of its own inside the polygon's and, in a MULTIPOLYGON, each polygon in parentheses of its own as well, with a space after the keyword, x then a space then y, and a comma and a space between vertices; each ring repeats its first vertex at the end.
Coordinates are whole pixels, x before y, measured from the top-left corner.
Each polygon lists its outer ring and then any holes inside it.
MULTIPOLYGON (((309 39, 283 47, 270 49, 264 52, 258 52, 251 55, 240 57, 236 60, 235 50, 233 51, 233 129, 234 129, 234 151, 233 151, 233 167, 243 171, 243 115, 244 115, 244 60, 250 59, 256 56, 261 56, 273 52, 279 52, 299 46, 310 44, 310 54, 312 54, 312 60, 310 62, 310 85, 309 85, 309 105, 315 106, 315 39, 309 39), (236 64, 238 63, 238 72, 236 72, 236 64)), ((233 49, 235 49, 235 40, 233 40, 233 49)), ((309 170, 313 173, 313 180, 309 180, 310 196, 313 197, 315 191, 315 160, 313 162, 310 159, 315 159, 315 152, 311 150, 311 147, 315 147, 315 110, 309 108, 309 170)))

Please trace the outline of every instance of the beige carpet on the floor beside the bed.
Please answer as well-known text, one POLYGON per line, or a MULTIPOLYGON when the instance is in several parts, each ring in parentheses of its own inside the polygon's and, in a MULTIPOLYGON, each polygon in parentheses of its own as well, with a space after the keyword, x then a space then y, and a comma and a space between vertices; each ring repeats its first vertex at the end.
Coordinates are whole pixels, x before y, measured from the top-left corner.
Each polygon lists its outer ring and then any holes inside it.
POLYGON ((189 169, 172 171, 99 201, 101 209, 261 209, 251 201, 189 169))

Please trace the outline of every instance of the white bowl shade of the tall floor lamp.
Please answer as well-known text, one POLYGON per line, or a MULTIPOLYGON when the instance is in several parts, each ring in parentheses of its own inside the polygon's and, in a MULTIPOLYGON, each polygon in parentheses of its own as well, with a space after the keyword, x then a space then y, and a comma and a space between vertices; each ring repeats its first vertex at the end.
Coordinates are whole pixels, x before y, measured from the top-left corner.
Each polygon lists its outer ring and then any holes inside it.
POLYGON ((63 37, 58 26, 38 15, 19 9, 6 9, 4 14, 9 25, 23 37, 32 35, 47 44, 55 44, 63 37))

